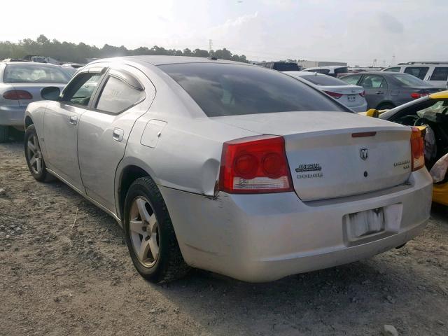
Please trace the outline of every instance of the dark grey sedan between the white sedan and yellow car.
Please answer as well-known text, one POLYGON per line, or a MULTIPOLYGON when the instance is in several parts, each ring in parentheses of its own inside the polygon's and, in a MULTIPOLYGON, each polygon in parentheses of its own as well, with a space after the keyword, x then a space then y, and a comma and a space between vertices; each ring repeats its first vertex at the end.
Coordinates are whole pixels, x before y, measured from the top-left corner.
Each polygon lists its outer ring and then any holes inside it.
POLYGON ((393 109, 395 106, 440 91, 407 73, 369 71, 353 73, 339 79, 364 87, 367 109, 393 109))

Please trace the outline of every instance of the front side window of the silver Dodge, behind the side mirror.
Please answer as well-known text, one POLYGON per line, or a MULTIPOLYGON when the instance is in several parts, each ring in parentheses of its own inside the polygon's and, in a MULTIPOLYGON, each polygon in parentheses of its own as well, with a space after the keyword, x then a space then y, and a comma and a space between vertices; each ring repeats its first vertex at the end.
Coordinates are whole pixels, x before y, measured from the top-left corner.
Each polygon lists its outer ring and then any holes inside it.
POLYGON ((80 73, 64 90, 63 102, 87 106, 93 92, 96 90, 101 73, 80 73))

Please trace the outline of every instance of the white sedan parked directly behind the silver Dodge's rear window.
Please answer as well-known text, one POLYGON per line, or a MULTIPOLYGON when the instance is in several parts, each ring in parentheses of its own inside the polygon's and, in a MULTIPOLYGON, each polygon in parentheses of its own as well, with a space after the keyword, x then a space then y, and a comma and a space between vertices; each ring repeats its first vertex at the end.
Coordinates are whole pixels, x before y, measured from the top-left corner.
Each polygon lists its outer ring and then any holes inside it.
POLYGON ((316 85, 320 90, 355 112, 365 112, 367 110, 365 91, 362 86, 350 85, 344 80, 316 72, 285 71, 285 73, 316 85))

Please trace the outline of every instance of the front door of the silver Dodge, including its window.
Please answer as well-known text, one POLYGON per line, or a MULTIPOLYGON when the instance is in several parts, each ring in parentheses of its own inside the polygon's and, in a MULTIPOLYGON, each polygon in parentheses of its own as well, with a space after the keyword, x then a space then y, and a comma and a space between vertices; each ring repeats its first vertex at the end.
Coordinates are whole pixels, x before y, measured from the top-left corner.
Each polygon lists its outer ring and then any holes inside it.
POLYGON ((78 165, 78 125, 97 89, 100 73, 79 73, 58 102, 50 102, 44 115, 45 163, 73 187, 85 191, 78 165))

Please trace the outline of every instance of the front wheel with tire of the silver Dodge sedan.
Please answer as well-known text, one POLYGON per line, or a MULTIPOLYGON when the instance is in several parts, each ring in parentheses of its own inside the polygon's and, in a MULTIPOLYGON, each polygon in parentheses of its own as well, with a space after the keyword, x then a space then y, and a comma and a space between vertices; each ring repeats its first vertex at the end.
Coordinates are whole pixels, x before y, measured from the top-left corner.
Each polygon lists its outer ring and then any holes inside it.
POLYGON ((34 125, 29 125, 25 131, 25 159, 34 179, 39 182, 45 181, 48 173, 34 125))

